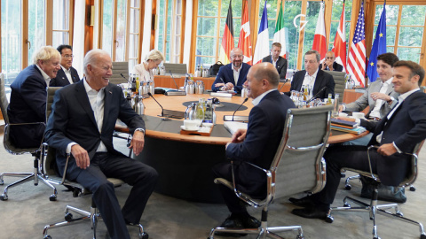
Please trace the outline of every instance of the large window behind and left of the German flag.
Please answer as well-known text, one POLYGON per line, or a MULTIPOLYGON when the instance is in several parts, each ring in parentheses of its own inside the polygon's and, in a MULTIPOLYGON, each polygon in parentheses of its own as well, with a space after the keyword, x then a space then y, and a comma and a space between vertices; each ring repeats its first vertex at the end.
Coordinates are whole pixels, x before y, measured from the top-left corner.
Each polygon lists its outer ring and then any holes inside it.
MULTIPOLYGON (((228 7, 229 0, 198 1, 195 66, 201 64, 211 65, 217 61, 228 7)), ((234 46, 236 47, 240 36, 242 1, 233 0, 232 8, 234 46)))

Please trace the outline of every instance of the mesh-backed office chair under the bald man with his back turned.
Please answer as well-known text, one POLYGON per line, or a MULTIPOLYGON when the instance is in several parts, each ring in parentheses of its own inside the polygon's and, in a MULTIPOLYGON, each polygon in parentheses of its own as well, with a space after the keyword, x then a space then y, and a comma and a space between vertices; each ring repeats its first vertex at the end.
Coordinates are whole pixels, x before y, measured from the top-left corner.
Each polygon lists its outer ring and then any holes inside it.
POLYGON ((262 224, 258 228, 215 227, 210 231, 209 239, 216 232, 235 234, 256 234, 257 238, 282 238, 277 232, 297 230, 297 238, 304 238, 301 226, 268 227, 268 206, 274 199, 288 197, 297 193, 319 192, 326 182, 326 165, 322 158, 330 133, 332 105, 307 109, 289 109, 284 132, 272 165, 269 169, 247 163, 264 171, 267 178, 267 196, 254 199, 236 188, 236 182, 223 178, 215 183, 223 184, 235 192, 237 197, 250 206, 262 208, 262 224), (282 165, 282 166, 281 166, 282 165))

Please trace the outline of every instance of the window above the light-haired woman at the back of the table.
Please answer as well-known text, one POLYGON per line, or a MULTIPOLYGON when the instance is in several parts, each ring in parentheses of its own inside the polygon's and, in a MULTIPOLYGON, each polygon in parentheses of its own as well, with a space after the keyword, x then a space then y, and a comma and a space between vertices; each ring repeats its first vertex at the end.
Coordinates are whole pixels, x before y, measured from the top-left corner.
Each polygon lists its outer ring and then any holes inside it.
POLYGON ((155 49, 162 51, 166 62, 181 63, 184 5, 182 0, 158 0, 155 49))

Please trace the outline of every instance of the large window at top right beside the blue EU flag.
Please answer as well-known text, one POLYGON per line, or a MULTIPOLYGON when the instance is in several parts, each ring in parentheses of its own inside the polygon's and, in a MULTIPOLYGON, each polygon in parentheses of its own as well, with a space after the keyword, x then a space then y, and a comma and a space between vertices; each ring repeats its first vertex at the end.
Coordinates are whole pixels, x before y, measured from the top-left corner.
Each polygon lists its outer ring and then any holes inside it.
MULTIPOLYGON (((377 4, 373 35, 375 35, 382 12, 383 4, 377 4)), ((426 14, 424 12, 426 12, 426 5, 386 4, 386 44, 388 52, 397 54, 400 59, 420 63, 422 39, 425 31, 426 14)), ((423 44, 425 43, 423 42, 423 44)))

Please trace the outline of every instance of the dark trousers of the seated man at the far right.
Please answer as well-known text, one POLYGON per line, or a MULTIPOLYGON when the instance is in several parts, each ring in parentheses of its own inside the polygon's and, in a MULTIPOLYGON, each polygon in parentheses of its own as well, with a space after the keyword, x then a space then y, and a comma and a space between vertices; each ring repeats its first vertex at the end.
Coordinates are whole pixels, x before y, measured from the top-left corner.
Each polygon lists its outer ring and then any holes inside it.
MULTIPOLYGON (((335 199, 335 193, 341 180, 342 167, 369 172, 370 166, 367 158, 367 146, 332 145, 326 150, 324 158, 327 163, 326 187, 312 197, 320 204, 329 206, 335 199)), ((373 173, 377 173, 379 170, 379 178, 384 185, 397 186, 399 182, 403 181, 408 170, 408 158, 401 157, 398 153, 385 157, 376 150, 370 150, 370 159, 373 173)))

